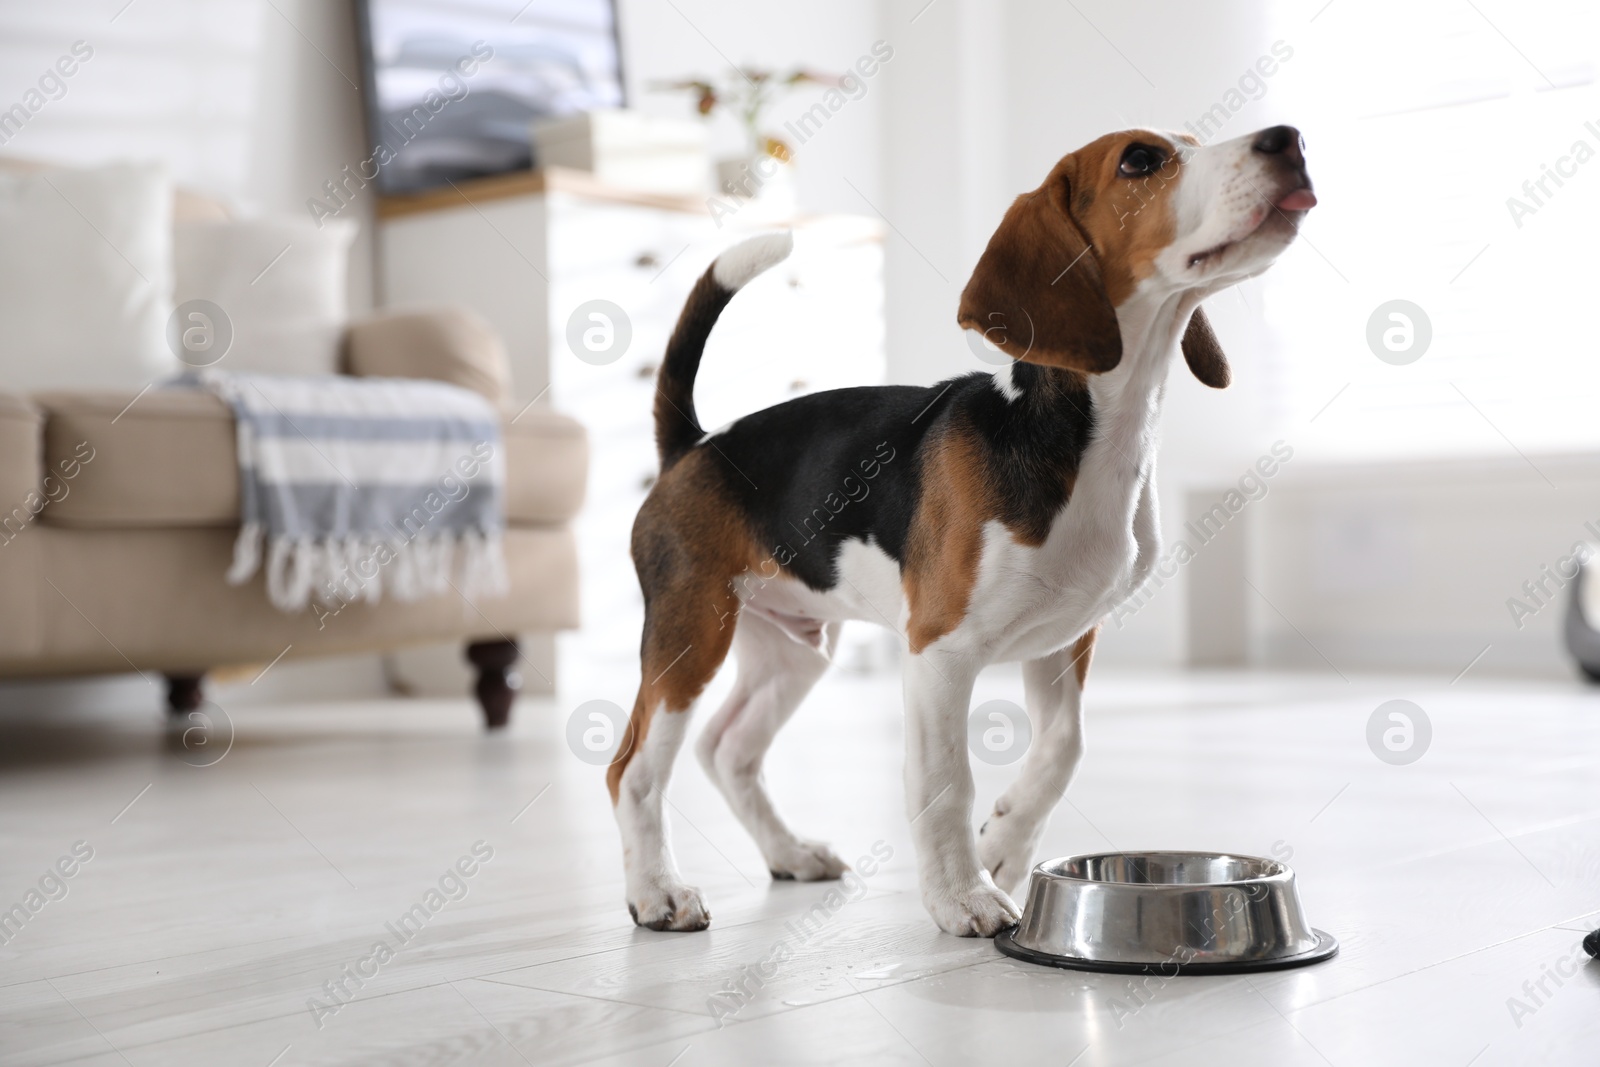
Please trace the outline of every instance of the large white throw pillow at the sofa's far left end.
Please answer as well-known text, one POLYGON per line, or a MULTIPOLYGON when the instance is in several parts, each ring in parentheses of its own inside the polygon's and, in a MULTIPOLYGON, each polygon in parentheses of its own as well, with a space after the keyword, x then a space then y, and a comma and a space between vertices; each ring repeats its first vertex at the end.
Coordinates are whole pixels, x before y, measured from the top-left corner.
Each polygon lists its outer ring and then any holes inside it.
POLYGON ((155 163, 0 171, 0 387, 171 374, 173 187, 155 163))

